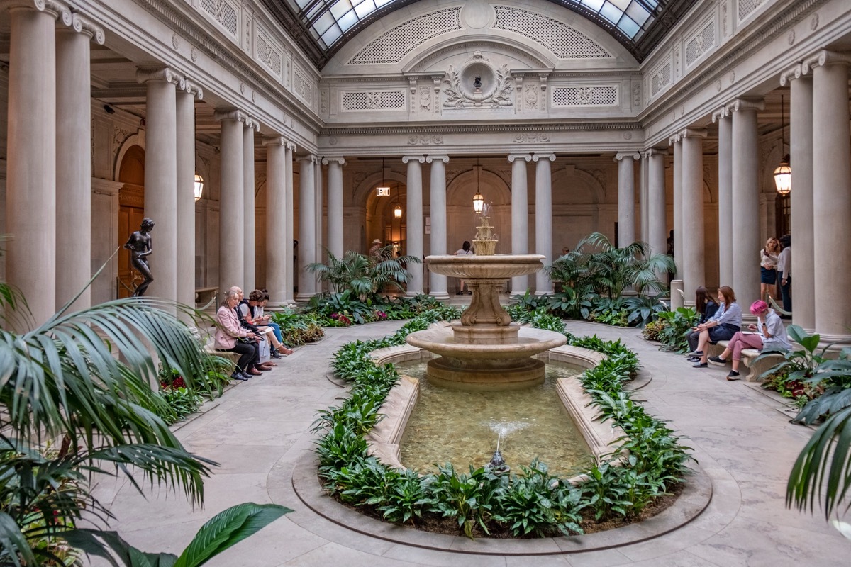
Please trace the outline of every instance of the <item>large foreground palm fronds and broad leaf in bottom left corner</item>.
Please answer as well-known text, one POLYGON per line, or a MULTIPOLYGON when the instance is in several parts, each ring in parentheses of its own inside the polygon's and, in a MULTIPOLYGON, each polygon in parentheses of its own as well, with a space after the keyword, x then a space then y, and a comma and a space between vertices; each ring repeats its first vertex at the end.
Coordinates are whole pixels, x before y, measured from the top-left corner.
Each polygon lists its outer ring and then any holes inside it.
MULTIPOLYGON (((234 507, 180 559, 141 553, 107 531, 111 514, 89 493, 91 473, 126 475, 137 490, 169 485, 203 504, 203 478, 215 463, 186 451, 151 411, 164 401, 148 377, 159 360, 191 384, 207 359, 168 314, 173 304, 128 298, 68 313, 74 300, 31 331, 0 330, 0 565, 66 564, 72 547, 134 567, 202 564, 289 512, 234 507), (51 444, 59 450, 46 451, 51 444), (94 528, 79 527, 83 510, 94 528)), ((20 294, 2 283, 0 306, 7 320, 18 315, 17 328, 27 319, 20 294)))

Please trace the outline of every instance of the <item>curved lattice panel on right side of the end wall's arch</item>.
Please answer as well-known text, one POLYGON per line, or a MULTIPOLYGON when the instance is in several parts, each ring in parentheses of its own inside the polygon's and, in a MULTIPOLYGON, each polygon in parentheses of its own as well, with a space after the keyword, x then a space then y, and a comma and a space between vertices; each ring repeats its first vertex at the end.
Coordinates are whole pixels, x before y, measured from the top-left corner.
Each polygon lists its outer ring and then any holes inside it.
POLYGON ((513 31, 549 49, 559 59, 612 57, 599 43, 580 31, 545 15, 509 6, 494 6, 494 29, 513 31))

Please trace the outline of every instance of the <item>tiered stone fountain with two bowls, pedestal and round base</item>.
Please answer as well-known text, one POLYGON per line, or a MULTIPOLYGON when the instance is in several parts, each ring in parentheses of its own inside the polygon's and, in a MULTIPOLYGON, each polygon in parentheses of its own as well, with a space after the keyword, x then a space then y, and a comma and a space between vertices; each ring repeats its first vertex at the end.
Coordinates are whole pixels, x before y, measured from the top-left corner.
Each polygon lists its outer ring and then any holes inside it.
POLYGON ((408 344, 439 358, 428 363, 432 383, 464 389, 527 388, 544 381, 544 363, 536 354, 567 342, 562 333, 521 327, 500 305, 505 280, 543 268, 540 254, 429 256, 432 272, 466 280, 470 307, 460 324, 408 335, 408 344))

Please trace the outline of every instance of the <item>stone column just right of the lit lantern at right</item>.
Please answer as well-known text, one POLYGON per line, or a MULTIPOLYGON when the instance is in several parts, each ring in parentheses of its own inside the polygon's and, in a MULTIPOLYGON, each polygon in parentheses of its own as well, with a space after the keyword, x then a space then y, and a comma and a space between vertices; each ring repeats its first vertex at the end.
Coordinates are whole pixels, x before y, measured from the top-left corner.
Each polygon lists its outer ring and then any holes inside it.
POLYGON ((780 85, 791 83, 790 160, 792 167, 791 234, 795 258, 792 262, 792 322, 808 332, 815 330, 815 280, 813 241, 813 77, 795 65, 780 77, 780 85))

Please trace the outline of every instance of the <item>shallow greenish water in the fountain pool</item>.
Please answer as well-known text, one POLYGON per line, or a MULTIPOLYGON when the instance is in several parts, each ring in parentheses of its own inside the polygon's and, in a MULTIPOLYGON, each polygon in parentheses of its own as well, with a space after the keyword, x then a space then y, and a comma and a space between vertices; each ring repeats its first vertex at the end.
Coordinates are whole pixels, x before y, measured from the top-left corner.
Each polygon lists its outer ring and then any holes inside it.
POLYGON ((500 451, 512 472, 537 457, 562 477, 585 471, 591 450, 564 409, 556 380, 581 372, 576 366, 550 363, 544 383, 500 392, 465 392, 434 386, 426 363, 396 365, 400 374, 420 378, 420 400, 408 419, 400 444, 402 463, 420 473, 451 462, 467 472, 490 461, 502 433, 500 451))

